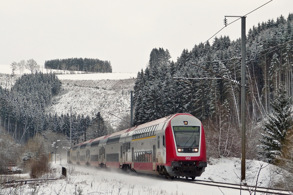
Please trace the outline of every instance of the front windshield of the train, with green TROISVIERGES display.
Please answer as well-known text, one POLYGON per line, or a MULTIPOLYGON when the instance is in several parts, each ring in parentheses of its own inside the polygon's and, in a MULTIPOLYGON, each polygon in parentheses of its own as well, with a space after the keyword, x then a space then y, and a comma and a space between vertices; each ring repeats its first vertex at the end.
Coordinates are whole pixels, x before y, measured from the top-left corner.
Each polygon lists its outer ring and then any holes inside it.
POLYGON ((199 147, 199 126, 173 126, 177 147, 199 147))

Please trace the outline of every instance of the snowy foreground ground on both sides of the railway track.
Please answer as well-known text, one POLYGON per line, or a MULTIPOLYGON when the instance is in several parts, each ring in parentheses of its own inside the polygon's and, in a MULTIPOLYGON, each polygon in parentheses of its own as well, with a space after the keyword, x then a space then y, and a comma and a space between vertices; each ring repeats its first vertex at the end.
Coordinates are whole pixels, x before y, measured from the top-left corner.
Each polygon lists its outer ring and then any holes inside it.
MULTIPOLYGON (((239 158, 221 158, 211 159, 212 165, 208 165, 206 171, 198 180, 213 180, 215 182, 239 183, 237 175, 240 175, 239 158)), ((55 180, 47 183, 35 183, 34 185, 25 185, 23 192, 30 194, 240 194, 240 190, 224 187, 213 187, 189 182, 186 180, 167 180, 163 176, 125 173, 122 170, 101 169, 79 165, 72 171, 70 166, 62 162, 63 167, 67 167, 67 178, 55 180), (64 163, 64 164, 63 164, 64 163), (223 193, 222 193, 223 192, 223 193)), ((261 161, 248 161, 246 172, 248 184, 255 184, 259 172, 260 164, 268 165, 261 161), (254 177, 253 183, 251 183, 254 177)), ((53 163, 53 166, 61 172, 61 166, 53 163)), ((72 166, 72 165, 71 165, 72 166)), ((273 165, 268 165, 260 171, 260 186, 268 187, 272 176, 273 165)), ((16 174, 17 175, 17 174, 16 174)), ((0 194, 9 194, 12 189, 0 191, 0 194)), ((241 194, 249 194, 248 191, 241 191, 241 194)), ((261 194, 261 193, 256 193, 261 194)))

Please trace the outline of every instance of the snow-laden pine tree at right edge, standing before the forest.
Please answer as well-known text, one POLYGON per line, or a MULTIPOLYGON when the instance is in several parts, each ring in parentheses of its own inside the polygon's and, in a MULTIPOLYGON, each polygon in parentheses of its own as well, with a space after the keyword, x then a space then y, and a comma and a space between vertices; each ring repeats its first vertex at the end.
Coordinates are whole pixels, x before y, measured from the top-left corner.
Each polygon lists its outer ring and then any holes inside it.
POLYGON ((271 102, 272 114, 267 116, 261 133, 262 139, 259 145, 263 149, 260 154, 274 161, 281 154, 281 149, 286 141, 288 130, 292 127, 292 100, 286 97, 287 91, 281 87, 277 89, 274 100, 271 102))

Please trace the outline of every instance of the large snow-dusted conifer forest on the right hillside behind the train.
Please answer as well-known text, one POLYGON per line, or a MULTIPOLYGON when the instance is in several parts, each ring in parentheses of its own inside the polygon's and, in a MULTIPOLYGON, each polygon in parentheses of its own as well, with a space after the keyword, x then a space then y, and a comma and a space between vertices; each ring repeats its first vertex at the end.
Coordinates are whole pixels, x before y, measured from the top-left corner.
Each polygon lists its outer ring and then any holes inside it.
MULTIPOLYGON (((292 134, 292 120, 284 120, 288 124, 283 125, 287 129, 281 130, 282 136, 277 136, 276 130, 262 128, 267 116, 274 111, 272 104, 276 105, 276 95, 285 91, 287 100, 282 108, 292 106, 292 22, 292 13, 287 18, 281 15, 276 21, 253 26, 246 37, 246 151, 249 159, 271 158, 273 155, 264 152, 269 147, 260 144, 277 145, 275 149, 280 151, 292 134), (284 139, 286 132, 288 139, 284 139), (264 139, 264 134, 269 134, 269 138, 264 139), (268 143, 272 141, 276 143, 268 143)), ((231 41, 229 36, 216 37, 212 43, 199 43, 190 51, 184 49, 176 63, 170 58, 167 49, 154 48, 149 65, 137 74, 134 124, 175 113, 190 113, 203 122, 208 157, 240 157, 241 86, 219 75, 241 82, 241 39, 231 41)), ((286 116, 292 117, 292 110, 286 111, 286 116)))

